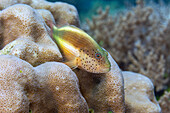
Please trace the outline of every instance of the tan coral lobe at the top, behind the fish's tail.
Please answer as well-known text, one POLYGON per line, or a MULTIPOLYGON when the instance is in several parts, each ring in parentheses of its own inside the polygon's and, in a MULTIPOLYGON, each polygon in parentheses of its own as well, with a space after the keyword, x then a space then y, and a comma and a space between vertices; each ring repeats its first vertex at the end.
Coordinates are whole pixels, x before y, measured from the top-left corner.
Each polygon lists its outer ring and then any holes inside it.
POLYGON ((67 24, 79 26, 80 24, 77 9, 67 3, 51 3, 45 0, 32 0, 32 3, 28 5, 35 9, 49 10, 53 14, 54 19, 59 26, 67 24))

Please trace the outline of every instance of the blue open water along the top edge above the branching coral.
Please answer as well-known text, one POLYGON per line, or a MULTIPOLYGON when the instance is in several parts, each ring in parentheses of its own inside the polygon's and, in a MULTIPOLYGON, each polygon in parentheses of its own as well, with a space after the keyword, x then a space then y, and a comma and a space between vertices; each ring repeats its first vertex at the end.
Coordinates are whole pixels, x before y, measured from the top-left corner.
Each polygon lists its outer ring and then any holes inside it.
MULTIPOLYGON (((99 7, 103 9, 106 6, 110 6, 110 14, 114 15, 116 12, 132 8, 136 5, 136 0, 47 0, 50 2, 66 2, 74 5, 80 16, 81 22, 85 21, 86 18, 91 19, 99 7)), ((146 4, 150 2, 156 4, 169 4, 170 0, 145 0, 146 4)))

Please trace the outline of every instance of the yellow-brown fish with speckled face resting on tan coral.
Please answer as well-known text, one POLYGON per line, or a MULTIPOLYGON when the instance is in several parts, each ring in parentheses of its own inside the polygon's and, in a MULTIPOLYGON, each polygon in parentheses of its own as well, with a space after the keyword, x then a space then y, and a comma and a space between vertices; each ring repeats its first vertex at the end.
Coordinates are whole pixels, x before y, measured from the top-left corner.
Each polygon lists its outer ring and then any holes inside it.
POLYGON ((73 26, 51 27, 52 37, 66 65, 91 73, 107 73, 110 70, 108 53, 83 30, 73 26))

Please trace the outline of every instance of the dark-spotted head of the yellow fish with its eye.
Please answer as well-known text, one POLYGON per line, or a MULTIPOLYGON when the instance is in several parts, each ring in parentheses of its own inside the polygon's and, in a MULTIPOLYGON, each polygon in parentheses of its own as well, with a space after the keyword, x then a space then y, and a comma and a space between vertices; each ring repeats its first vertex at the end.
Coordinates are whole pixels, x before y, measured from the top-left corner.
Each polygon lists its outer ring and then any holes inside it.
POLYGON ((101 49, 88 49, 80 51, 80 65, 82 69, 91 73, 107 73, 111 64, 107 51, 101 49))

